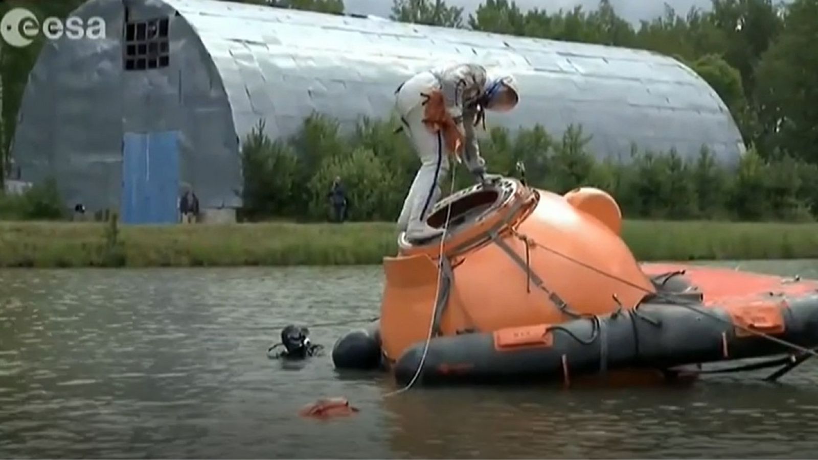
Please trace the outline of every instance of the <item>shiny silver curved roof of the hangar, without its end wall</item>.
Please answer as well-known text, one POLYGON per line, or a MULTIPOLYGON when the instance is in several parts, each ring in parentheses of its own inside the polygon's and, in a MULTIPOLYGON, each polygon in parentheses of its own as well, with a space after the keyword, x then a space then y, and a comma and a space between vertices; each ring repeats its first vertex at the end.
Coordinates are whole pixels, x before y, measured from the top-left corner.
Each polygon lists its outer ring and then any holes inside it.
POLYGON ((692 70, 651 51, 520 38, 215 0, 164 0, 213 57, 240 136, 258 118, 288 136, 317 110, 343 122, 389 116, 403 79, 443 60, 499 65, 521 102, 488 123, 582 123, 600 157, 643 148, 694 156, 709 145, 732 163, 743 150, 730 112, 692 70))

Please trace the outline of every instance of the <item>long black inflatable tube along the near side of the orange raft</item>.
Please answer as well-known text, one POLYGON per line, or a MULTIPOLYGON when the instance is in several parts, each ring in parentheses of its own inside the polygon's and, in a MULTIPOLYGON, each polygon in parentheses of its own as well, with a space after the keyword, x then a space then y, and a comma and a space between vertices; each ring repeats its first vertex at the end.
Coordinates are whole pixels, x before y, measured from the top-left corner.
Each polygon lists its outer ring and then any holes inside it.
MULTIPOLYGON (((418 383, 559 382, 613 369, 668 369, 793 352, 775 338, 818 346, 818 296, 790 300, 782 313, 784 333, 773 338, 736 328, 726 309, 658 301, 599 318, 531 326, 530 342, 516 346, 502 346, 497 333, 435 337, 418 383)), ((424 346, 416 343, 394 364, 399 384, 416 373, 424 346)))

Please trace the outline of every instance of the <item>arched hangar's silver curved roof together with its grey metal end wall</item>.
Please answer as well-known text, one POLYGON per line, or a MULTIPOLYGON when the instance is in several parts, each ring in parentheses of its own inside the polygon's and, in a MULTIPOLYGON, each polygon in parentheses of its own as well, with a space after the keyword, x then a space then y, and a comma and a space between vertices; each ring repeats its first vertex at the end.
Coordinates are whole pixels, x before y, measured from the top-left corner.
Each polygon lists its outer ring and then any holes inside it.
POLYGON ((389 117, 398 84, 444 60, 514 72, 520 104, 489 114, 488 125, 540 123, 559 136, 582 124, 591 151, 626 160, 631 142, 675 146, 688 157, 706 144, 722 163, 743 148, 712 88, 648 51, 213 0, 91 0, 74 14, 103 17, 106 38, 63 37, 43 47, 11 154, 22 180, 56 176, 68 203, 90 210, 118 206, 124 180, 138 179, 124 166, 124 139, 168 132, 178 136, 178 179, 194 187, 201 206, 240 206, 237 139, 260 118, 281 137, 298 132, 313 110, 344 127, 361 115, 389 117), (167 67, 124 70, 125 16, 169 17, 167 67))

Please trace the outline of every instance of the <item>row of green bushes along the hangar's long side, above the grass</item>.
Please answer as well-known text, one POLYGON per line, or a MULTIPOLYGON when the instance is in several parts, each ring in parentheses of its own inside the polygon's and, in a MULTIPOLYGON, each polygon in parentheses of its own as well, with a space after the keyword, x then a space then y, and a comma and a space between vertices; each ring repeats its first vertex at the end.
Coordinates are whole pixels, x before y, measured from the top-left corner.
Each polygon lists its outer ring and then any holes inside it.
MULTIPOLYGON (((362 119, 342 135, 339 124, 313 115, 286 141, 272 141, 259 123, 245 138, 243 217, 326 220, 335 176, 348 192, 354 221, 397 219, 418 162, 397 123, 362 119)), ((763 159, 750 150, 737 172, 719 167, 708 150, 694 161, 674 151, 634 146, 627 163, 595 160, 582 127, 552 136, 542 127, 510 135, 492 129, 481 143, 489 170, 515 174, 524 162, 531 185, 564 193, 581 185, 608 190, 628 218, 814 221, 818 217, 818 166, 792 157, 763 159)), ((474 183, 454 167, 455 187, 474 183)), ((444 195, 451 176, 443 185, 444 195)))

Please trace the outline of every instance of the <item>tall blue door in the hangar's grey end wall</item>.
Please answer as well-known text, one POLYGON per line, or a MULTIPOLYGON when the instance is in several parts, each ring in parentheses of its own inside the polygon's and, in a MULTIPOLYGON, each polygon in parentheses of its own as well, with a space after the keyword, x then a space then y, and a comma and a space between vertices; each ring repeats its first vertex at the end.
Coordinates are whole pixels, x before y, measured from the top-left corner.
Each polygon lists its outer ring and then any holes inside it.
POLYGON ((123 223, 177 222, 178 132, 126 132, 122 154, 123 223))

